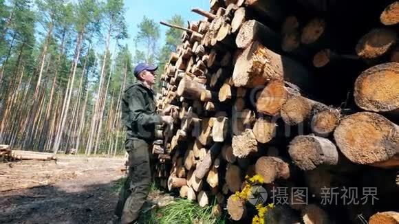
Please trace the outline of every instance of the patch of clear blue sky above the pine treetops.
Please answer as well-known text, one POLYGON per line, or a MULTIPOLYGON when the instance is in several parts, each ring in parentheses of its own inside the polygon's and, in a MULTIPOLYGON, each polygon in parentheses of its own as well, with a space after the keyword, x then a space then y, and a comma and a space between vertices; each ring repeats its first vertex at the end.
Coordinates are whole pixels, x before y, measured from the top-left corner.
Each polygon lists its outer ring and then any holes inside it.
MULTIPOLYGON (((129 31, 129 39, 125 43, 129 45, 133 53, 133 38, 138 32, 137 25, 142 21, 143 16, 153 19, 155 22, 167 21, 174 14, 180 14, 185 21, 199 21, 203 17, 191 12, 191 8, 202 8, 209 10, 209 0, 125 0, 126 21, 129 31)), ((158 46, 164 43, 165 32, 169 27, 160 25, 161 38, 158 46)), ((114 48, 114 44, 111 44, 114 48)))

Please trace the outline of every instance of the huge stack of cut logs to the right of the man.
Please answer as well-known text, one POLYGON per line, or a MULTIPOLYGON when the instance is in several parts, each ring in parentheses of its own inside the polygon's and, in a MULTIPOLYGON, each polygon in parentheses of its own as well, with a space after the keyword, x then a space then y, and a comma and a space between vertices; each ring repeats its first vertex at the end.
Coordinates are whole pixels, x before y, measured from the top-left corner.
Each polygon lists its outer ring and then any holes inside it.
POLYGON ((233 197, 247 175, 261 177, 276 221, 398 223, 398 9, 211 0, 192 10, 201 21, 169 25, 184 33, 161 76, 158 110, 175 110, 153 146, 157 180, 244 223, 256 209, 233 197), (343 201, 348 189, 357 203, 343 201))

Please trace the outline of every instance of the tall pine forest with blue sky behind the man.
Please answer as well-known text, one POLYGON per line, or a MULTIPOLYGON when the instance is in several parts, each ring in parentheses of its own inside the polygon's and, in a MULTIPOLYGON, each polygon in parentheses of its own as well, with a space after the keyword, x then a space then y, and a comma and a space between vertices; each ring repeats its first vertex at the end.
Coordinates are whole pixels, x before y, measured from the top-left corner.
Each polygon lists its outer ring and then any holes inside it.
MULTIPOLYGON (((125 152, 120 120, 133 68, 159 66, 201 1, 0 0, 0 144, 79 154, 125 152)), ((162 83, 158 80, 155 91, 162 83)))

